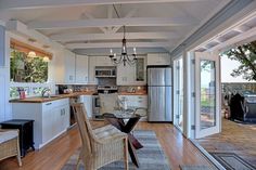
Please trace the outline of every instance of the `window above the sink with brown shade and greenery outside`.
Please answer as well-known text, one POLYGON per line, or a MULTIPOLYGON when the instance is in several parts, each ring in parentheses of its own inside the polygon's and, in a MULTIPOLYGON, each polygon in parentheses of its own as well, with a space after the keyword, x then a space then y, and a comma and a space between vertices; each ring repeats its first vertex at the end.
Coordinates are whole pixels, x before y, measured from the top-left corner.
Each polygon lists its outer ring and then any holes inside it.
POLYGON ((52 54, 11 39, 11 82, 47 82, 48 62, 52 54))

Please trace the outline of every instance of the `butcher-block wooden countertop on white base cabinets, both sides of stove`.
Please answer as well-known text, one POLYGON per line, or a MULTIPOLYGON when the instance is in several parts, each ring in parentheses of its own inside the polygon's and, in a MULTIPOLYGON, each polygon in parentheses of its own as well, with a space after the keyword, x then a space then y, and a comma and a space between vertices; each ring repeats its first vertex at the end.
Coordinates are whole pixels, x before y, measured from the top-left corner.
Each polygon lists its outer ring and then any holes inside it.
MULTIPOLYGON (((51 95, 51 97, 41 97, 41 96, 33 96, 33 97, 26 97, 23 100, 16 99, 16 100, 10 100, 10 103, 44 103, 44 102, 51 102, 56 101, 65 97, 76 97, 78 95, 92 95, 95 93, 95 91, 87 91, 87 92, 74 92, 69 94, 56 94, 51 95)), ((145 91, 141 92, 120 92, 119 95, 146 95, 145 91)))

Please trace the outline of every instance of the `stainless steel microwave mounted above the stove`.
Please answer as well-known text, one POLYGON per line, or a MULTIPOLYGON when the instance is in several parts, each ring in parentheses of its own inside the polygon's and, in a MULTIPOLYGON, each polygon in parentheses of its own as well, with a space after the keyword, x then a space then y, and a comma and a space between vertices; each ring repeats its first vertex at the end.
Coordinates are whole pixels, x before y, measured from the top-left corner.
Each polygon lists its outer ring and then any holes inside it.
POLYGON ((116 67, 95 66, 95 77, 116 77, 116 67))

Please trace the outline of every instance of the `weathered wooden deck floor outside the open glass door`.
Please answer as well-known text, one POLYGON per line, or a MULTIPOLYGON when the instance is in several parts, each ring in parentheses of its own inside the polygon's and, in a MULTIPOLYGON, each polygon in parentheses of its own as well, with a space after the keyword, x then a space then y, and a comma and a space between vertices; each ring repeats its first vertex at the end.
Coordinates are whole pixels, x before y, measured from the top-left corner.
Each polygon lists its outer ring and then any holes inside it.
POLYGON ((196 140, 208 153, 235 153, 256 167, 256 125, 241 125, 222 119, 222 131, 196 140))

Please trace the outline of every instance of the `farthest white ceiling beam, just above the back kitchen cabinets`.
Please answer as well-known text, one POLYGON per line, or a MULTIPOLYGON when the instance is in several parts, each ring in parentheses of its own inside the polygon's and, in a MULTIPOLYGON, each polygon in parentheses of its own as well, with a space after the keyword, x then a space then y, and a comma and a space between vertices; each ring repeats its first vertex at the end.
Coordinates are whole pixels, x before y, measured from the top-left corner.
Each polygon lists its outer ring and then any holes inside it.
MULTIPOLYGON (((127 48, 163 48, 171 47, 172 42, 129 42, 127 48)), ((121 42, 111 42, 111 43, 67 43, 65 45, 67 49, 101 49, 101 48, 120 48, 121 42)))

